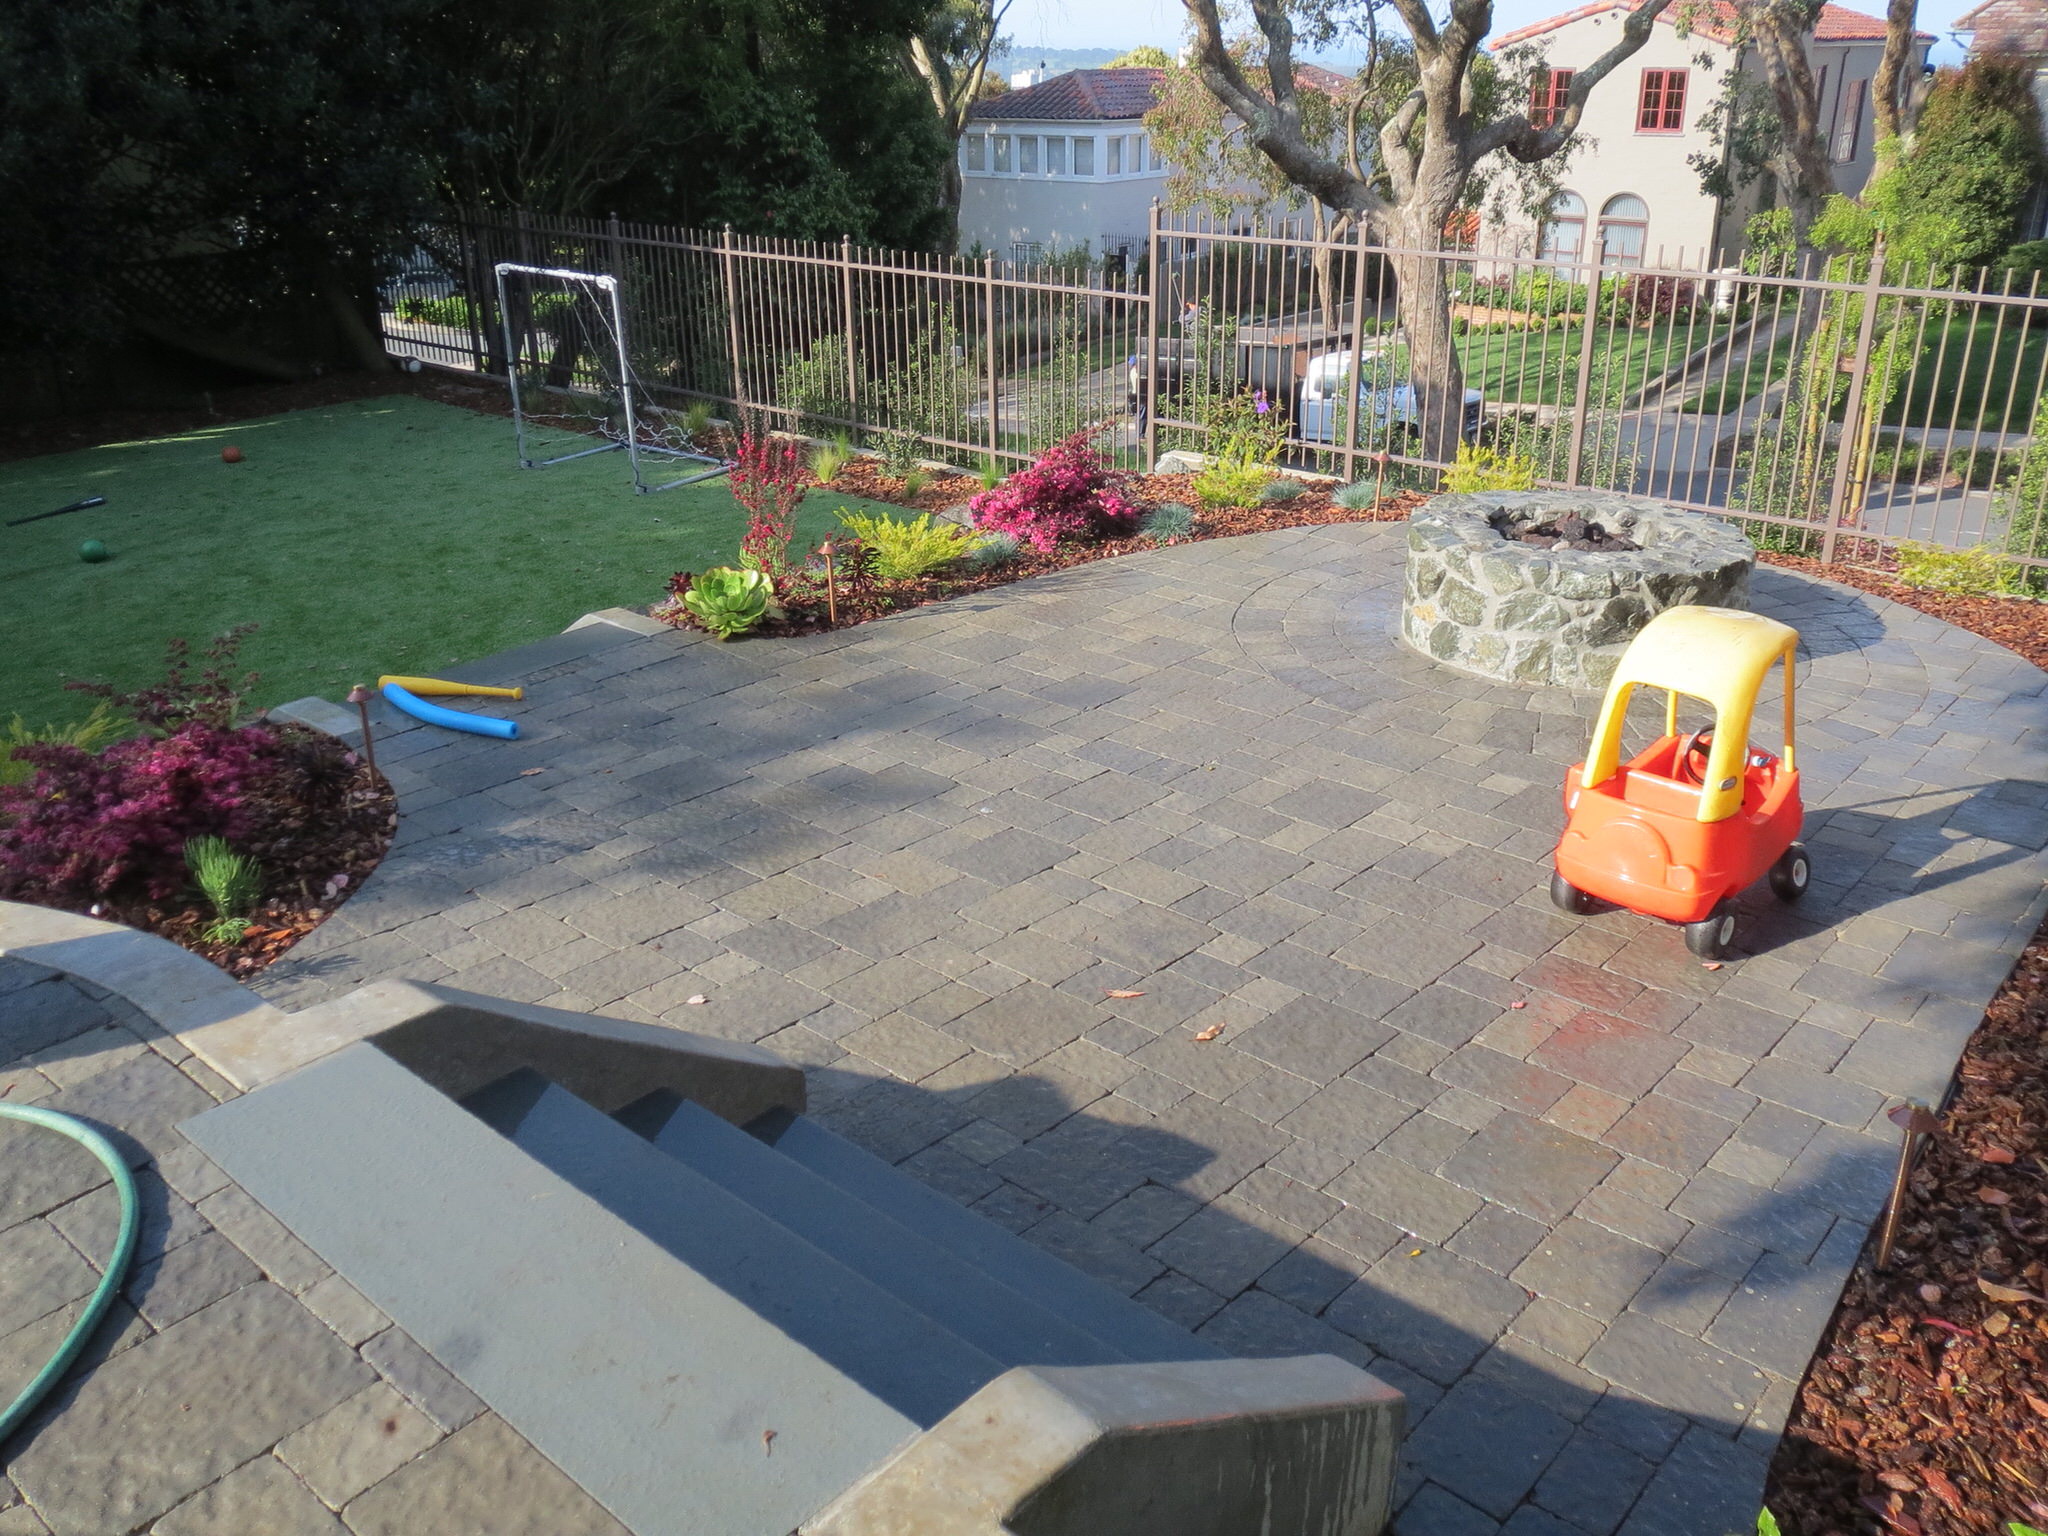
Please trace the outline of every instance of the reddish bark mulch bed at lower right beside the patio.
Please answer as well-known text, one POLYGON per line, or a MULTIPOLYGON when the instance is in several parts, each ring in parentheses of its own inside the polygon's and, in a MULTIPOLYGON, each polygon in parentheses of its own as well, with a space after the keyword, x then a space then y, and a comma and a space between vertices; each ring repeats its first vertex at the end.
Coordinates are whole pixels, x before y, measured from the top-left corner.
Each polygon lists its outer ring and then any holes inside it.
POLYGON ((1923 1143, 1892 1266, 1858 1266, 1765 1503, 1786 1536, 2048 1528, 2048 926, 1923 1143))

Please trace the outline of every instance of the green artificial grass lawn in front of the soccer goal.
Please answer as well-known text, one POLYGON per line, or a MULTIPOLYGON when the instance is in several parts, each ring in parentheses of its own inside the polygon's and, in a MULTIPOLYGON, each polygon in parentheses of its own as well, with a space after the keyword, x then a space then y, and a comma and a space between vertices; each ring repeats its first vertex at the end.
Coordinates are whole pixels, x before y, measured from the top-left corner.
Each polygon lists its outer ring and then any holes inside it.
MULTIPOLYGON (((0 528, 0 725, 82 717, 66 680, 133 688, 170 637, 248 621, 254 705, 340 700, 653 602, 745 528, 723 479, 635 496, 623 453, 520 469, 512 422, 408 395, 0 465, 0 522, 82 496, 106 506, 0 528), (113 559, 80 561, 86 539, 113 559)), ((811 492, 799 543, 840 506, 811 492)))

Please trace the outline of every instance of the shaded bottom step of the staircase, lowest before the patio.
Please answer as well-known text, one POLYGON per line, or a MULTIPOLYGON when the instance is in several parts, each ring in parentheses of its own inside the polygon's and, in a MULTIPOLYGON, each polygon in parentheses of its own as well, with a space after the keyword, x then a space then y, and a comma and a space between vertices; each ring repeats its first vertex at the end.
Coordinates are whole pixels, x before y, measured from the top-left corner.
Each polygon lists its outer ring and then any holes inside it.
POLYGON ((1085 1329, 1124 1360, 1225 1358, 1223 1350, 1204 1343, 1178 1323, 977 1217, 803 1114, 770 1110, 750 1120, 745 1128, 864 1206, 909 1227, 1055 1317, 1085 1329))

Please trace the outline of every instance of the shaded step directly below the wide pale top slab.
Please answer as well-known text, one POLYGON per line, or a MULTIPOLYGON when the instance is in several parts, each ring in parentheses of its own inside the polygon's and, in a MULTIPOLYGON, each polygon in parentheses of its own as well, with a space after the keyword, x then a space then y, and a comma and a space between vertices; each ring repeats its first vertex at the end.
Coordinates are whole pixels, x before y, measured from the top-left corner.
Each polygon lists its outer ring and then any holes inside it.
POLYGON ((1010 1364, 535 1071, 463 1108, 915 1423, 938 1423, 1010 1364))

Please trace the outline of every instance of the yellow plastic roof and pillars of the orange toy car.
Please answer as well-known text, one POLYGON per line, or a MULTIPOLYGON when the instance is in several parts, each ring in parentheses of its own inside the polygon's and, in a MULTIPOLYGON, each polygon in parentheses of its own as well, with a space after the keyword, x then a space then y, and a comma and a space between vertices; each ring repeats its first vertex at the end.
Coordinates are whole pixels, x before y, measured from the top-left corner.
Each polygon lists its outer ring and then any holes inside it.
POLYGON ((1622 717, 1638 686, 1671 694, 1665 709, 1667 731, 1677 729, 1677 694, 1714 707, 1714 743, 1706 782, 1700 786, 1700 821, 1726 821, 1743 807, 1743 756, 1749 748, 1749 719, 1763 690, 1763 678, 1786 664, 1784 766, 1796 768, 1792 750, 1792 666, 1798 659, 1798 631, 1763 614, 1737 608, 1665 608, 1651 618, 1622 651, 1608 684, 1608 698, 1593 725, 1581 782, 1604 784, 1622 754, 1622 717))

